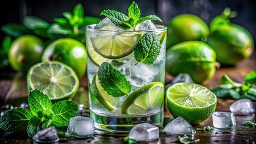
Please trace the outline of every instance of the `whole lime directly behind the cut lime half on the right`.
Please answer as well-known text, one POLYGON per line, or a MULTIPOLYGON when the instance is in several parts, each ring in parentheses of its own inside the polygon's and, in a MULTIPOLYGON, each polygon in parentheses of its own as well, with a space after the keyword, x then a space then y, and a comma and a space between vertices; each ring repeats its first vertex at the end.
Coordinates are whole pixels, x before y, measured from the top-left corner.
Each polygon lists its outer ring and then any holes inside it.
POLYGON ((185 41, 166 52, 166 71, 172 76, 187 73, 194 82, 201 83, 212 78, 215 69, 216 53, 204 42, 185 41))

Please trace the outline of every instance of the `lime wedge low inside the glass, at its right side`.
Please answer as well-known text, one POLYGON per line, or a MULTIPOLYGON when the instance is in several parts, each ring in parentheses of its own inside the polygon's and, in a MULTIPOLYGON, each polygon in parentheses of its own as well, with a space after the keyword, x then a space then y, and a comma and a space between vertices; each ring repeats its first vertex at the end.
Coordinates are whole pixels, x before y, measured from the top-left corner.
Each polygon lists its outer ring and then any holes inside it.
POLYGON ((162 108, 163 83, 152 82, 132 92, 121 106, 121 113, 140 115, 162 108))

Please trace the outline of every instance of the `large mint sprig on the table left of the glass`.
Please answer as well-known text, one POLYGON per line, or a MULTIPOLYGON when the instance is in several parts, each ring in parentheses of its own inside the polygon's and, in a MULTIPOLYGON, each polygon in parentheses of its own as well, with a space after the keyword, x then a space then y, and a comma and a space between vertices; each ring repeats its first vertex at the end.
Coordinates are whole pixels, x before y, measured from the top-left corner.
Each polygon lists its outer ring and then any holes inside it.
POLYGON ((69 119, 76 115, 78 104, 74 101, 59 101, 52 104, 47 95, 32 90, 28 96, 31 111, 24 108, 8 110, 0 118, 0 128, 5 131, 25 131, 29 137, 47 127, 69 125, 69 119))

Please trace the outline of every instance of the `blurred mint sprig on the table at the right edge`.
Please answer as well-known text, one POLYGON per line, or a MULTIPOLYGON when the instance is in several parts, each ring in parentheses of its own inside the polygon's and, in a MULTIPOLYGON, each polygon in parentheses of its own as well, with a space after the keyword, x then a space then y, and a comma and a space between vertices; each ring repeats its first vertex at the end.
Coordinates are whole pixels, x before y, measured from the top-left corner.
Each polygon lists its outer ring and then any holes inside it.
POLYGON ((230 77, 225 74, 221 77, 222 85, 216 86, 212 89, 217 97, 231 96, 234 99, 248 98, 250 100, 256 100, 256 71, 251 71, 245 77, 244 83, 234 82, 230 77))

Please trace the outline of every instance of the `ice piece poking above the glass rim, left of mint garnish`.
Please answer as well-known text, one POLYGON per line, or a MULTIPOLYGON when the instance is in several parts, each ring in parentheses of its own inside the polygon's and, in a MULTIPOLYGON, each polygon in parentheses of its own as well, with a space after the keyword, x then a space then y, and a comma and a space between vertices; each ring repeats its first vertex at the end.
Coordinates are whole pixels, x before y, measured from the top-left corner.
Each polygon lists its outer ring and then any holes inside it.
POLYGON ((111 22, 108 17, 100 21, 95 27, 96 29, 101 29, 101 30, 108 30, 108 31, 118 31, 121 30, 121 28, 114 23, 111 22))

